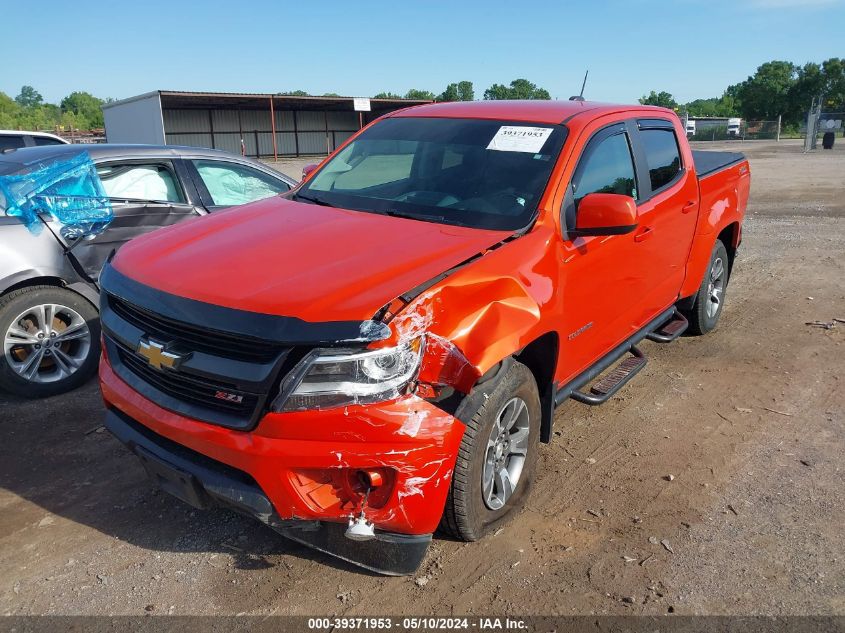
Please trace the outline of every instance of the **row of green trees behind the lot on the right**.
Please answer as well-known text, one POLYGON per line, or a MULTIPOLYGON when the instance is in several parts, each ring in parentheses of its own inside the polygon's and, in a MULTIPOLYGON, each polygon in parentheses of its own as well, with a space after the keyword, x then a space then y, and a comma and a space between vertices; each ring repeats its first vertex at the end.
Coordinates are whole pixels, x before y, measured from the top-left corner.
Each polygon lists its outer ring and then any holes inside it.
POLYGON ((822 99, 827 112, 845 111, 845 59, 832 57, 804 65, 774 60, 760 65, 743 82, 728 86, 721 97, 678 103, 666 91, 640 98, 640 103, 671 108, 690 116, 742 117, 798 125, 814 99, 822 99))

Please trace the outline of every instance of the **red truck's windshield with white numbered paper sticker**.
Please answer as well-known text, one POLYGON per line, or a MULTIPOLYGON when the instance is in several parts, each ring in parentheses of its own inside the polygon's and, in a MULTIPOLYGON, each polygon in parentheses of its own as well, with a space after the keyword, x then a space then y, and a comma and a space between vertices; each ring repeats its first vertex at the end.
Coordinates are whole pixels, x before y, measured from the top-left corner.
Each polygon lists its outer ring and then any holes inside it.
POLYGON ((397 117, 369 128, 295 199, 475 228, 532 221, 566 128, 397 117))

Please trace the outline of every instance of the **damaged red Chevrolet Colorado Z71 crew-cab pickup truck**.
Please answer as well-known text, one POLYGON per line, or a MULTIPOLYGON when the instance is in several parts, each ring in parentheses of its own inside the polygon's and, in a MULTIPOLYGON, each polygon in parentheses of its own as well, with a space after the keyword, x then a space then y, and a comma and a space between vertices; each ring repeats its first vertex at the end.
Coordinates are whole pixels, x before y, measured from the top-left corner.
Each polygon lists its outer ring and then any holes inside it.
POLYGON ((716 326, 749 184, 660 108, 386 115, 291 192, 106 264, 106 426, 194 506, 412 573, 438 527, 524 504, 557 406, 716 326))

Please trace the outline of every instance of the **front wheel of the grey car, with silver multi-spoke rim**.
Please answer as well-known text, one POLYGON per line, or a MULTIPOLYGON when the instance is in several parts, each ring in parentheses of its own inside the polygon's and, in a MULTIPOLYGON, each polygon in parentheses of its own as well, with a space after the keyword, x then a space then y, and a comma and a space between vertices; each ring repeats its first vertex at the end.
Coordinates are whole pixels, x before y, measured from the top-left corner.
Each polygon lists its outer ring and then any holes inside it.
POLYGON ((0 337, 0 388, 15 395, 54 396, 79 387, 97 371, 99 314, 65 288, 31 286, 2 297, 0 337))

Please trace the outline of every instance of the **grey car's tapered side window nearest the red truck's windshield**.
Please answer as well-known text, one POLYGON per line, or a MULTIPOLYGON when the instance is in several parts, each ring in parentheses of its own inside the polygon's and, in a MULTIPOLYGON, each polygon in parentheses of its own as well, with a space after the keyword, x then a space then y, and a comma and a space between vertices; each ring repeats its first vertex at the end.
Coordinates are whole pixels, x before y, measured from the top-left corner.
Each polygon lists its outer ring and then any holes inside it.
POLYGON ((203 205, 209 211, 247 204, 290 191, 281 176, 251 165, 214 158, 186 160, 203 205))

